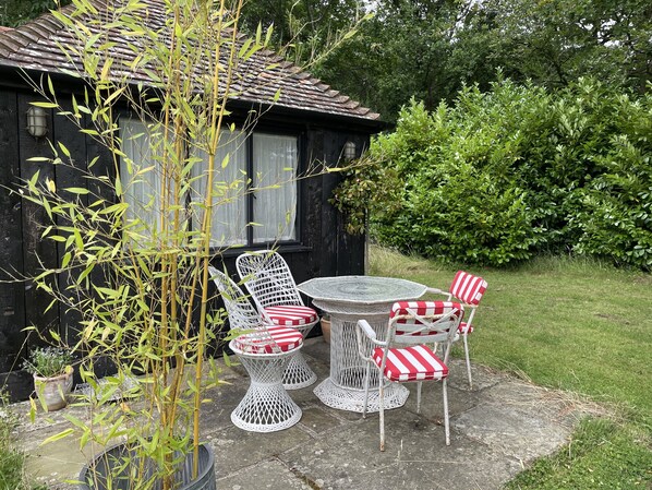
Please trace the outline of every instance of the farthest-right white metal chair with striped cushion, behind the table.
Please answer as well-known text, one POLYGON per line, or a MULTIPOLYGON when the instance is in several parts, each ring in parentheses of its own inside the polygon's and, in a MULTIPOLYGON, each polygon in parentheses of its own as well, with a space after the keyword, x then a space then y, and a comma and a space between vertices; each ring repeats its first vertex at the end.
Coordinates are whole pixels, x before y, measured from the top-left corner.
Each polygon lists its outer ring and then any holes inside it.
POLYGON ((448 288, 448 292, 437 288, 428 288, 427 292, 446 295, 448 301, 457 300, 461 302, 464 309, 470 310, 468 319, 460 323, 459 334, 464 343, 464 357, 467 358, 467 374, 469 377, 469 387, 473 387, 471 379, 471 360, 469 358, 469 334, 473 332, 473 318, 475 310, 480 304, 484 291, 486 290, 486 280, 480 276, 474 276, 464 271, 458 271, 448 288))

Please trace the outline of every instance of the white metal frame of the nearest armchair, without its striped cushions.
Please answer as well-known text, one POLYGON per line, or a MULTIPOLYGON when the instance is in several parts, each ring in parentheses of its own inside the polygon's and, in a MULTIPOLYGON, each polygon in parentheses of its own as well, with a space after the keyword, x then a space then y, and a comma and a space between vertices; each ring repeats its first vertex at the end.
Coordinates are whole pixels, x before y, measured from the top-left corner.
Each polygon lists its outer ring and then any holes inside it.
MULTIPOLYGON (((375 368, 374 371, 378 379, 378 402, 379 402, 379 426, 381 426, 381 451, 385 451, 385 404, 384 404, 384 391, 388 380, 383 375, 385 366, 387 362, 387 354, 393 347, 405 347, 410 345, 422 345, 424 343, 423 335, 427 335, 427 342, 443 344, 444 347, 444 363, 448 362, 448 356, 450 354, 450 346, 458 336, 457 330, 459 327, 463 311, 456 308, 449 309, 447 313, 437 315, 419 315, 415 310, 407 309, 410 314, 396 315, 387 322, 387 328, 385 332, 385 339, 379 339, 376 331, 372 328, 366 320, 360 320, 358 322, 358 335, 359 354, 362 359, 366 362, 366 375, 364 381, 364 408, 362 417, 366 417, 367 405, 369 405, 369 389, 371 381, 372 366, 375 368), (412 322, 412 328, 410 333, 406 335, 397 335, 396 326, 400 321, 408 320, 412 322), (420 333, 421 335, 415 335, 420 333), (383 348, 383 359, 381 364, 377 364, 373 357, 373 347, 383 348)), ((401 328, 405 330, 406 325, 401 324, 401 328)), ((431 380, 437 381, 437 380, 431 380)), ((448 420, 448 392, 447 392, 448 377, 442 380, 442 395, 444 403, 444 428, 446 433, 446 445, 450 445, 450 426, 448 420)), ((421 414, 421 386, 422 381, 402 381, 402 383, 415 382, 416 383, 416 413, 421 414)), ((394 382, 398 383, 398 382, 394 382)), ((393 383, 393 384, 394 384, 393 383)), ((391 407, 387 407, 391 408, 391 407)))

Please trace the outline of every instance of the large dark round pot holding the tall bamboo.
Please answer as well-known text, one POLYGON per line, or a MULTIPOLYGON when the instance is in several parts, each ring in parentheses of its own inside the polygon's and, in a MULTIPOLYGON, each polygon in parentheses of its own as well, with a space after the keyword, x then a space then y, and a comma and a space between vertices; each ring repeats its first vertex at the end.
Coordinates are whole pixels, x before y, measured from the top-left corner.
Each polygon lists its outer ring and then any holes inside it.
MULTIPOLYGON (((176 490, 217 490, 215 485, 215 457, 208 445, 200 446, 200 466, 197 478, 192 480, 194 456, 192 452, 185 456, 183 466, 174 475, 178 483, 176 490)), ((130 478, 130 470, 138 465, 134 450, 118 444, 98 454, 80 473, 80 490, 135 490, 130 478), (125 464, 126 461, 129 464, 125 464), (119 468, 119 469, 113 469, 119 468)), ((143 479, 154 474, 154 462, 144 465, 143 479)), ((156 481, 153 490, 160 490, 162 485, 156 481)))

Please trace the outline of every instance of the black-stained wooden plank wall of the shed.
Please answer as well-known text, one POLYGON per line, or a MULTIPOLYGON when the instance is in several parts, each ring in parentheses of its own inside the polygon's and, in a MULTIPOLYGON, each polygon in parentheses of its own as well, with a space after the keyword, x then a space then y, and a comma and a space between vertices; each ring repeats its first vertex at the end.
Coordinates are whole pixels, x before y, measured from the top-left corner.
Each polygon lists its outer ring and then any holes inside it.
MULTIPOLYGON (((48 140, 62 142, 72 153, 75 167, 85 169, 88 162, 99 156, 95 171, 113 174, 106 150, 63 117, 50 112, 47 138, 31 136, 25 130, 26 111, 29 101, 37 99, 27 91, 0 86, 0 386, 7 385, 13 399, 23 399, 32 391, 29 379, 20 371, 20 366, 22 356, 39 343, 35 335, 28 337, 24 328, 29 325, 41 332, 51 328, 72 344, 77 316, 64 308, 48 310, 51 298, 47 294, 36 290, 28 282, 12 280, 12 277, 33 275, 40 268, 40 262, 56 266, 61 250, 52 242, 40 240, 46 223, 44 210, 11 190, 17 188, 20 179, 29 178, 37 170, 41 180, 55 180, 58 189, 85 186, 70 167, 28 162, 35 156, 51 156, 48 140)), ((304 165, 309 162, 335 165, 349 140, 355 142, 359 151, 369 144, 365 132, 334 129, 312 121, 298 123, 294 120, 293 123, 302 128, 304 165)), ((300 240, 280 248, 297 283, 318 276, 364 273, 363 238, 347 235, 341 215, 328 203, 339 178, 338 174, 331 174, 301 181, 300 240)), ((224 265, 231 275, 236 274, 234 261, 241 252, 242 249, 224 256, 224 265)), ((58 280, 67 279, 61 275, 58 280)), ((319 331, 314 334, 318 335, 319 331)))

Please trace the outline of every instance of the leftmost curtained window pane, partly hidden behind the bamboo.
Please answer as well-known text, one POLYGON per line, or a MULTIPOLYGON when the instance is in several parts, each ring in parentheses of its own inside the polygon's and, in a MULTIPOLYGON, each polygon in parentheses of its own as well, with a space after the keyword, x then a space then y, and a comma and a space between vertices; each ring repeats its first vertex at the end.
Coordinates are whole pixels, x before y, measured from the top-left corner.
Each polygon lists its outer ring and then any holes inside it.
POLYGON ((152 154, 153 142, 147 127, 140 120, 120 121, 122 152, 126 155, 120 162, 120 180, 124 202, 129 204, 126 220, 140 219, 149 231, 158 227, 160 218, 160 172, 152 154))

